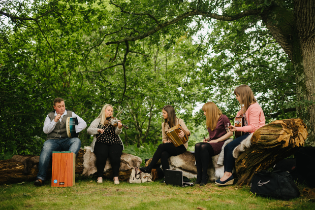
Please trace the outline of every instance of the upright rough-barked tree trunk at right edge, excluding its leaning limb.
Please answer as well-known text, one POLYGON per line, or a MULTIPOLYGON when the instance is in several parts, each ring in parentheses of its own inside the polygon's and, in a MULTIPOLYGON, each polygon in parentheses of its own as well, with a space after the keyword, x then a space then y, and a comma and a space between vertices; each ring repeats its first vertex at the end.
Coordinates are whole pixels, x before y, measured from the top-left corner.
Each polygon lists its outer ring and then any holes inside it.
POLYGON ((315 146, 315 1, 296 0, 294 7, 299 48, 293 63, 296 68, 297 99, 302 102, 297 116, 303 119, 308 128, 306 144, 315 146))

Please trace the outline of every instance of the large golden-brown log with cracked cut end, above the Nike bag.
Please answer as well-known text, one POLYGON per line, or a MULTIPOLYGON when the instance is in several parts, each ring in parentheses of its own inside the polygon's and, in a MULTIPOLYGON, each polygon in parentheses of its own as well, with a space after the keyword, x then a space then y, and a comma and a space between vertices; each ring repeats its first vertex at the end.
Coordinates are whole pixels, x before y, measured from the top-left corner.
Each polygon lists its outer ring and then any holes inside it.
POLYGON ((237 185, 249 185, 255 171, 267 170, 304 145, 307 128, 301 119, 276 120, 256 130, 251 146, 235 161, 237 185))

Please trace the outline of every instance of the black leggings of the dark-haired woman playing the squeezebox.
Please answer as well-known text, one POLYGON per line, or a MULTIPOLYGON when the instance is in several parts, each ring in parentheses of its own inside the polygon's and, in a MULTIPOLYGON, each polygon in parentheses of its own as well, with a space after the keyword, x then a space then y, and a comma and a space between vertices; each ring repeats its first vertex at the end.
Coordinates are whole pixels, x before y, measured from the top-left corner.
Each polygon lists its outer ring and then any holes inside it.
POLYGON ((170 169, 168 158, 171 156, 177 156, 179 154, 182 154, 185 151, 186 151, 186 148, 184 145, 175 147, 173 143, 161 144, 159 145, 159 147, 157 147, 149 165, 151 167, 154 167, 157 161, 159 161, 159 159, 161 158, 162 168, 165 171, 166 169, 170 169))

